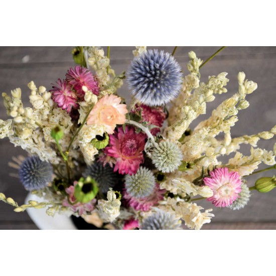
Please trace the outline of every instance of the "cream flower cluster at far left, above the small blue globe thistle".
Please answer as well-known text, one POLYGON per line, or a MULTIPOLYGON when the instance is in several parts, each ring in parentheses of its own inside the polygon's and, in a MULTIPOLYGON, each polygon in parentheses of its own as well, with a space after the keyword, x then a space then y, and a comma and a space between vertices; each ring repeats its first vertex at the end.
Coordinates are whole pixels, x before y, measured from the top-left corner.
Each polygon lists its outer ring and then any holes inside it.
MULTIPOLYGON (((21 89, 12 90, 11 96, 2 93, 4 105, 12 119, 0 120, 0 139, 9 137, 15 146, 20 146, 30 154, 37 154, 41 160, 53 164, 60 162, 52 144, 51 130, 59 125, 64 133, 61 145, 68 144, 72 121, 65 110, 55 108, 51 93, 44 86, 36 87, 31 81, 30 102, 32 107, 23 106, 21 89)), ((64 149, 65 150, 65 149, 64 149)))

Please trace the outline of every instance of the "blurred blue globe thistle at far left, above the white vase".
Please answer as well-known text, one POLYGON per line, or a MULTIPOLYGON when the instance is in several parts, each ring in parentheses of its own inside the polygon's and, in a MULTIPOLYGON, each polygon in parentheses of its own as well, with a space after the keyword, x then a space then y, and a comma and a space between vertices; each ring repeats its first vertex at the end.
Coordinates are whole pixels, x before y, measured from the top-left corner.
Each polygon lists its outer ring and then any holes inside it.
POLYGON ((52 181, 53 167, 38 156, 26 158, 19 169, 19 178, 27 191, 43 189, 52 181))

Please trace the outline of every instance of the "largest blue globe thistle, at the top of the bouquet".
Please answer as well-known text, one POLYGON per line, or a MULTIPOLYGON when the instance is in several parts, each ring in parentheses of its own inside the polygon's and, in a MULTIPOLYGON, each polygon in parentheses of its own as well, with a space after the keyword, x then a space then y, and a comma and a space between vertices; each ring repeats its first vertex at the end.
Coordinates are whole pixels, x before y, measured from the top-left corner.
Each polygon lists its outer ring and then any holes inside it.
POLYGON ((140 102, 150 106, 162 105, 179 94, 181 67, 171 54, 148 50, 131 62, 127 83, 132 95, 140 102))

